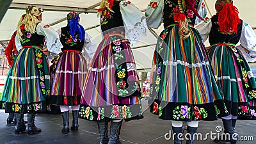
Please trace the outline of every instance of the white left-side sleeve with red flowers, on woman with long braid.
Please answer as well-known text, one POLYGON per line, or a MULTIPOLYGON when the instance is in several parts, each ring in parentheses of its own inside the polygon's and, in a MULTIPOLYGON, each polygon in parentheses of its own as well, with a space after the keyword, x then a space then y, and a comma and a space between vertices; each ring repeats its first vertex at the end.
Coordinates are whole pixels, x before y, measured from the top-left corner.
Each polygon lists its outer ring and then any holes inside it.
POLYGON ((152 0, 146 10, 147 24, 150 28, 159 28, 163 22, 164 0, 152 0))

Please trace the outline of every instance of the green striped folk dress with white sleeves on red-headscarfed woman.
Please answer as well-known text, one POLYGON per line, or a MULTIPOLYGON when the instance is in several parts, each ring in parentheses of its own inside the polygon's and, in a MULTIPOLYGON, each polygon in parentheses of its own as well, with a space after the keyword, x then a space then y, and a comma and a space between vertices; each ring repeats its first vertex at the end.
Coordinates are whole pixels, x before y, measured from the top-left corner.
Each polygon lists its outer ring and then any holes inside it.
POLYGON ((220 33, 218 15, 196 26, 204 40, 209 36, 212 68, 218 85, 223 90, 228 113, 238 118, 255 118, 256 83, 252 70, 241 49, 255 49, 253 29, 243 20, 237 26, 237 33, 220 33))

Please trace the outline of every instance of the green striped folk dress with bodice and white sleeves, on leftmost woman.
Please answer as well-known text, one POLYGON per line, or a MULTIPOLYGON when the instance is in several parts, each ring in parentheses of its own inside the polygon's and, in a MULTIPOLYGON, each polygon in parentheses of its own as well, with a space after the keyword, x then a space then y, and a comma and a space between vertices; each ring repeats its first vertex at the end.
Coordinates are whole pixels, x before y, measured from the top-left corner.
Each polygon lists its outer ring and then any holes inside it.
POLYGON ((16 36, 15 45, 19 52, 4 84, 6 113, 47 111, 45 97, 50 94, 50 75, 47 57, 40 51, 44 40, 50 52, 61 52, 58 33, 47 24, 38 23, 36 32, 26 31, 21 41, 16 36))

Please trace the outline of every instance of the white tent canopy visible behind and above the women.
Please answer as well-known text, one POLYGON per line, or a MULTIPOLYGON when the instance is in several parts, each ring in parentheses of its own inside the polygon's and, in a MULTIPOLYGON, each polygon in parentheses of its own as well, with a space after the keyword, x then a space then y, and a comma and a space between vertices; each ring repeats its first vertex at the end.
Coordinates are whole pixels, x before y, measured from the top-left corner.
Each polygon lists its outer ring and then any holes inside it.
MULTIPOLYGON (((145 11, 150 2, 150 0, 130 1, 138 6, 142 12, 145 11)), ((100 2, 101 0, 13 0, 0 24, 0 41, 10 39, 10 36, 12 36, 13 31, 16 29, 20 16, 25 13, 26 6, 28 4, 34 4, 44 9, 43 22, 45 24, 51 24, 56 30, 67 25, 65 19, 69 11, 75 10, 76 12, 81 12, 81 24, 86 29, 86 32, 94 38, 95 43, 99 44, 101 36, 99 19, 97 18, 97 8, 99 8, 100 2)), ((205 0, 205 5, 208 10, 207 17, 211 17, 216 13, 214 4, 215 0, 205 0)), ((234 4, 239 9, 241 19, 248 22, 250 26, 256 27, 256 15, 253 14, 253 8, 256 8, 255 0, 236 0, 234 4)), ((154 29, 157 35, 161 33, 162 30, 163 26, 159 29, 154 29)), ((156 41, 157 38, 152 35, 152 33, 148 32, 146 38, 142 38, 139 44, 132 46, 138 70, 150 70, 156 41)))

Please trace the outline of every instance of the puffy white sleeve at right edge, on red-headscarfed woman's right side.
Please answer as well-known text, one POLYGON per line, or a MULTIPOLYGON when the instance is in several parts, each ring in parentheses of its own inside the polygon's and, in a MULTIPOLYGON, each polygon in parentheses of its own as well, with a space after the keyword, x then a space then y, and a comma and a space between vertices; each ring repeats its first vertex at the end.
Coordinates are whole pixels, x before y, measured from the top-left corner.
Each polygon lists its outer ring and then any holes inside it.
POLYGON ((244 58, 249 62, 256 61, 256 35, 252 27, 244 21, 240 43, 237 49, 243 52, 244 58))

